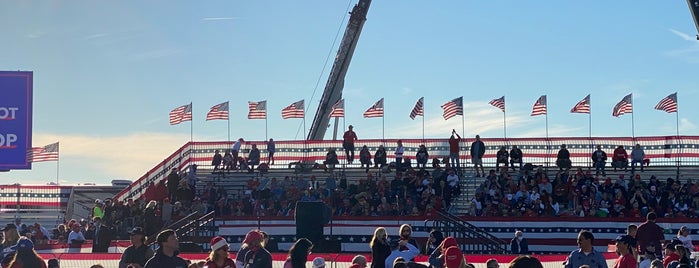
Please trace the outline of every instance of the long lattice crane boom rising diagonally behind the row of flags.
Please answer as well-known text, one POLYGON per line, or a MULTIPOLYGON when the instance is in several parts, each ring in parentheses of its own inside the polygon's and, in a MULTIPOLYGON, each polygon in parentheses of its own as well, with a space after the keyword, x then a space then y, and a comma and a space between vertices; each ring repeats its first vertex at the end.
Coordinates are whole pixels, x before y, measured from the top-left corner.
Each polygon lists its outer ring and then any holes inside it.
POLYGON ((342 89, 345 87, 345 75, 347 75, 347 69, 350 61, 352 61, 354 48, 357 46, 357 41, 359 41, 359 34, 361 34, 362 27, 364 27, 369 5, 371 5, 371 0, 359 0, 359 3, 350 12, 351 15, 345 29, 345 35, 342 37, 342 42, 337 50, 335 62, 330 71, 328 82, 325 84, 325 90, 313 118, 313 123, 308 131, 307 140, 323 140, 325 137, 325 131, 330 120, 328 116, 333 104, 342 98, 342 89))

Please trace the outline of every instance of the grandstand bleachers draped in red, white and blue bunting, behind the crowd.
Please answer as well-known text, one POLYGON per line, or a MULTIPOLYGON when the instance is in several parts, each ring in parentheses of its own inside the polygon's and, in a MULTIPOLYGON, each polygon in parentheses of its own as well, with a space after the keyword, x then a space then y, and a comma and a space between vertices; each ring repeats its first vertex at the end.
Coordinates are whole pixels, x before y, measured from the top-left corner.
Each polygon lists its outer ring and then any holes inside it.
MULTIPOLYGON (((553 163, 560 144, 568 145, 574 168, 582 168, 587 171, 591 169, 591 152, 597 145, 602 146, 603 150, 611 154, 611 151, 618 145, 630 148, 632 145, 639 143, 643 146, 646 158, 650 161, 649 166, 642 173, 644 180, 648 180, 651 175, 655 175, 662 180, 672 177, 679 179, 682 183, 686 183, 699 175, 699 169, 696 168, 699 163, 699 137, 696 136, 637 137, 635 139, 629 137, 551 138, 548 140, 542 138, 484 138, 483 141, 487 147, 484 156, 486 169, 495 166, 495 152, 500 146, 510 147, 511 145, 517 145, 524 152, 525 163, 541 166, 552 177, 558 170, 553 163)), ((246 142, 240 155, 242 157, 247 156, 252 144, 256 144, 262 150, 262 162, 264 162, 264 156, 266 156, 264 141, 246 142)), ((367 145, 372 153, 378 145, 385 144, 389 156, 391 155, 390 152, 395 149, 392 148, 395 140, 362 140, 357 142, 357 144, 359 146, 367 145)), ((405 155, 407 158, 412 158, 413 163, 414 153, 420 144, 426 145, 430 158, 442 159, 448 156, 449 146, 446 139, 403 140, 403 144, 406 151, 405 155)), ((471 166, 469 163, 470 156, 468 155, 469 144, 470 142, 462 142, 461 146, 461 162, 468 163, 467 167, 471 166)), ((296 163, 322 162, 327 148, 341 150, 341 141, 277 141, 277 153, 275 154, 277 165, 272 166, 269 171, 233 171, 223 175, 212 174, 211 159, 214 151, 220 150, 225 152, 231 146, 232 144, 228 142, 187 143, 161 161, 156 167, 149 170, 124 191, 120 192, 116 198, 120 200, 126 198, 138 199, 145 193, 150 183, 156 183, 165 179, 171 169, 181 170, 182 176, 187 176, 186 171, 194 164, 198 167, 196 172, 197 195, 204 195, 204 189, 210 185, 210 187, 215 189, 224 190, 227 194, 226 200, 246 200, 246 198, 250 198, 251 189, 248 188, 248 182, 250 181, 256 181, 259 184, 257 188, 262 190, 268 187, 272 178, 282 180, 288 176, 293 181, 299 178, 309 179, 313 176, 318 178, 322 187, 325 187, 326 183, 330 183, 337 185, 338 188, 348 189, 367 178, 366 171, 360 168, 357 162, 352 165, 341 164, 332 173, 327 173, 322 168, 309 168, 309 165, 296 165, 296 163)), ((340 162, 345 162, 343 156, 340 156, 340 162)), ((434 170, 428 168, 428 171, 433 172, 434 170)), ((390 179, 395 176, 394 171, 384 173, 377 168, 372 168, 369 173, 375 178, 385 176, 390 179)), ((607 177, 617 178, 622 174, 627 175, 627 180, 630 178, 628 172, 622 170, 613 171, 609 167, 609 163, 607 164, 607 177)), ((543 217, 537 219, 512 218, 511 222, 502 223, 499 218, 474 217, 474 207, 471 200, 476 193, 476 189, 485 179, 474 177, 473 175, 470 168, 462 170, 460 179, 461 195, 453 201, 451 207, 444 208, 444 214, 401 216, 398 220, 395 217, 371 217, 371 220, 374 221, 368 221, 368 218, 362 217, 335 216, 333 217, 333 223, 325 225, 324 233, 330 234, 326 235, 326 239, 345 239, 341 241, 341 249, 343 251, 365 251, 367 250, 367 235, 369 235, 368 239, 371 238, 370 231, 367 230, 376 226, 387 226, 391 230, 391 226, 397 226, 399 223, 410 223, 416 230, 415 236, 421 240, 424 240, 430 229, 439 228, 460 236, 465 252, 503 253, 506 250, 505 243, 509 241, 514 230, 524 229, 525 232, 533 233, 529 236, 530 239, 533 238, 534 241, 540 242, 540 244, 533 246, 536 252, 553 253, 569 251, 575 248, 573 240, 575 234, 581 228, 600 231, 611 239, 616 234, 623 233, 628 223, 642 222, 641 219, 635 218, 619 218, 605 221, 576 218, 561 220, 562 218, 556 218, 555 221, 552 221, 543 217), (340 222, 342 224, 338 224, 340 222), (572 226, 571 223, 576 228, 561 228, 570 227, 572 226), (341 225, 345 225, 347 228, 338 227, 341 225), (357 229, 352 226, 361 227, 362 232, 365 233, 357 233, 357 229), (499 227, 493 228, 493 226, 499 227), (544 234, 551 230, 560 230, 553 232, 556 233, 555 237, 565 238, 553 239, 550 234, 544 234), (492 246, 485 248, 475 246, 488 244, 484 243, 484 240, 489 241, 492 246)), ((562 206, 562 209, 568 209, 565 205, 562 206)), ((672 236, 673 230, 679 229, 682 224, 687 224, 688 222, 691 222, 691 229, 699 229, 699 225, 696 224, 694 218, 668 220, 668 223, 664 226, 668 230, 668 237, 672 236)), ((206 237, 216 233, 224 235, 231 242, 235 242, 240 241, 250 228, 260 228, 271 230, 272 234, 279 239, 276 241, 276 247, 283 250, 288 248, 295 238, 294 225, 293 216, 262 216, 259 213, 237 217, 220 215, 214 219, 213 224, 208 223, 208 226, 202 226, 201 232, 194 232, 191 235, 191 239, 205 244, 206 237)), ((606 250, 606 242, 600 240, 599 243, 596 246, 600 250, 606 250)))

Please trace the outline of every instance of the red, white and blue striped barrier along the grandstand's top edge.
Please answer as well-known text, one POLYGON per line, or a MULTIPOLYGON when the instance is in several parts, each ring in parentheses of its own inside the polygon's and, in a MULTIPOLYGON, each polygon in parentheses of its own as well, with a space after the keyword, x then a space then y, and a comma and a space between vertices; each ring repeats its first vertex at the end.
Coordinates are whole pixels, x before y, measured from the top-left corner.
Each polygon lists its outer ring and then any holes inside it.
MULTIPOLYGON (((396 149, 397 139, 387 140, 359 140, 355 142, 355 159, 359 158, 359 151, 366 145, 372 155, 379 145, 386 148, 388 162, 393 161, 393 152, 396 149)), ((517 145, 523 152, 524 163, 534 165, 555 166, 556 154, 561 144, 566 144, 570 152, 574 167, 591 165, 591 155, 597 145, 607 152, 609 162, 614 149, 623 145, 629 155, 633 145, 640 144, 645 151, 646 159, 651 166, 698 166, 699 165, 699 136, 653 136, 653 137, 559 137, 559 138, 483 138, 486 151, 483 157, 485 166, 495 166, 497 151, 505 146, 509 151, 513 145, 517 145)), ((443 159, 449 156, 448 139, 403 139, 405 150, 404 158, 414 160, 419 146, 424 144, 430 155, 430 159, 443 159)), ((462 139, 460 143, 459 159, 464 165, 470 166, 471 156, 469 150, 473 139, 462 139)), ((265 141, 247 141, 241 148, 240 156, 248 156, 252 145, 255 144, 261 152, 261 162, 267 161, 267 145, 265 141)), ((271 168, 288 168, 295 162, 317 162, 325 160, 329 148, 336 150, 340 163, 345 163, 345 154, 342 149, 342 141, 276 141, 275 164, 271 168)), ((211 165, 215 150, 223 155, 233 146, 232 142, 188 142, 174 153, 163 159, 159 164, 146 172, 133 184, 117 195, 118 199, 139 198, 152 182, 164 179, 170 170, 176 168, 183 170, 191 164, 199 166, 211 165)), ((354 162, 358 167, 358 161, 354 162)))

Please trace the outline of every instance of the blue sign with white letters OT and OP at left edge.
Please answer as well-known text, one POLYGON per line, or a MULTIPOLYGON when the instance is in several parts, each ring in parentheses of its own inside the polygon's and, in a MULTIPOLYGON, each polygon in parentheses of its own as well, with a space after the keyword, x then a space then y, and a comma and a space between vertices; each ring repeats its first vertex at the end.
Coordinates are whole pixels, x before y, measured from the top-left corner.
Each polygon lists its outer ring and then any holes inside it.
POLYGON ((31 169, 32 72, 0 71, 0 170, 31 169))

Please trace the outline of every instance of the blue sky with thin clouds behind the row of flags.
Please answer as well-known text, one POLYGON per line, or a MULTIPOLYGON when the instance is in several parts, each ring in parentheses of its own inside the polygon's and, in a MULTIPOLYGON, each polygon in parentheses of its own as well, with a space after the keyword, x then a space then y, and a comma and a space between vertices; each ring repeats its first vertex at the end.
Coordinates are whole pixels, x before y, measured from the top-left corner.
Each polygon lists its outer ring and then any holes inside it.
MULTIPOLYGON (((259 100, 269 137, 302 139, 302 121, 280 110, 305 99, 310 126, 355 2, 4 1, 0 70, 34 72, 34 146, 61 142, 61 183, 136 179, 189 140, 189 122, 168 123, 189 102, 195 140, 227 139, 225 121, 204 121, 224 101, 233 138, 264 139, 264 121, 246 119, 259 100)), ((674 135, 675 115, 653 107, 678 92, 680 133, 697 135, 699 42, 684 1, 521 3, 374 1, 346 77, 346 123, 380 138, 381 119, 362 113, 383 97, 386 138, 420 137, 408 114, 424 96, 426 137, 447 137, 461 119, 445 121, 440 105, 464 96, 466 136, 502 137, 488 102, 505 95, 508 137, 543 137, 544 117, 529 113, 546 94, 550 135, 587 136, 587 115, 569 110, 591 94, 592 135, 631 136, 631 116, 611 112, 633 93, 636 136, 674 135)), ((55 179, 54 162, 0 173, 55 179)))

